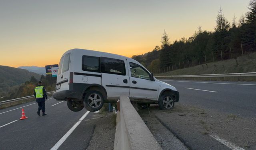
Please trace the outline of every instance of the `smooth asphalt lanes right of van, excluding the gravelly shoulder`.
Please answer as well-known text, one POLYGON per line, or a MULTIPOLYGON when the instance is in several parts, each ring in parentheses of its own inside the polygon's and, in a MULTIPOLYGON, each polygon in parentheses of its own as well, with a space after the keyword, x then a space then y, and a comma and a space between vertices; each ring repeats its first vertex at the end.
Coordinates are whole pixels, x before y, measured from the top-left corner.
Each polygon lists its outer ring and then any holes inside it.
POLYGON ((256 118, 256 82, 161 81, 177 88, 179 103, 256 118))

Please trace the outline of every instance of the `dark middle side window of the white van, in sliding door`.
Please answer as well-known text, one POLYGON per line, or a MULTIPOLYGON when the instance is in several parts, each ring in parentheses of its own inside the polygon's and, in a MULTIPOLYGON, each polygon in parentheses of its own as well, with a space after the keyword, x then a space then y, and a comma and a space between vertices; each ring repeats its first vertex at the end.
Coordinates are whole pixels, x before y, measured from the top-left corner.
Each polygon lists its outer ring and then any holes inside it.
POLYGON ((102 57, 101 68, 102 73, 126 75, 124 60, 102 57))

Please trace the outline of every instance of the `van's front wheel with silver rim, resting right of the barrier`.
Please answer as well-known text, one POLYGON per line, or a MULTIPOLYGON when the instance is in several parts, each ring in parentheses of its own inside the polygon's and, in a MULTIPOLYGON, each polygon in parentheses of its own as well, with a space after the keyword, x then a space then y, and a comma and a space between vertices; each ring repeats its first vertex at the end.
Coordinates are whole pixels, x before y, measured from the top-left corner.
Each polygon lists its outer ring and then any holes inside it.
POLYGON ((174 98, 171 92, 163 93, 158 102, 158 106, 161 110, 167 110, 174 108, 174 98))

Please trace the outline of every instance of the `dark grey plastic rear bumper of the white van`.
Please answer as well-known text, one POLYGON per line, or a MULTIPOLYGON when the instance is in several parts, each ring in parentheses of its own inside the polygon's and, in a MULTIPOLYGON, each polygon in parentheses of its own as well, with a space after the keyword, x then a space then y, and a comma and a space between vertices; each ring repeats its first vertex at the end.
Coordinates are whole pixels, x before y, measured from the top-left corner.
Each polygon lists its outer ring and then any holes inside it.
POLYGON ((75 92, 74 90, 62 90, 59 92, 54 92, 52 97, 56 100, 67 100, 67 99, 79 99, 80 94, 75 92))

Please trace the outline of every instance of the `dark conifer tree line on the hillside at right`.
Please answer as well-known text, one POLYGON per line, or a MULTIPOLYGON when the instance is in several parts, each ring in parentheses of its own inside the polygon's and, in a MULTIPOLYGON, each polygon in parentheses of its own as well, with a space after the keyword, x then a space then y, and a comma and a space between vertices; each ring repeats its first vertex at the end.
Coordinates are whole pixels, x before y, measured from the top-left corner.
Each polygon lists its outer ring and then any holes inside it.
MULTIPOLYGON (((250 0, 248 12, 232 22, 225 18, 222 8, 218 10, 214 31, 198 30, 186 39, 170 42, 164 30, 161 46, 146 54, 134 55, 133 59, 146 66, 151 72, 159 68, 174 70, 185 66, 206 64, 226 60, 256 51, 256 0, 250 0)), ((238 62, 236 61, 236 65, 238 62)))

